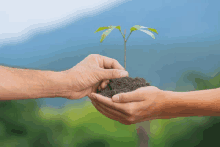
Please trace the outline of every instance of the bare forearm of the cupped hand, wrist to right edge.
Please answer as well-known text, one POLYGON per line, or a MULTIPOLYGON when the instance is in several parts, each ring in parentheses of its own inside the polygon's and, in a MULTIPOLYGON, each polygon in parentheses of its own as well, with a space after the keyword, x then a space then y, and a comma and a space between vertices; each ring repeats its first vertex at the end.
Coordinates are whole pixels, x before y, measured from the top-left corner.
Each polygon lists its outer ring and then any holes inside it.
POLYGON ((220 116, 220 88, 190 92, 164 91, 164 96, 161 116, 220 116))

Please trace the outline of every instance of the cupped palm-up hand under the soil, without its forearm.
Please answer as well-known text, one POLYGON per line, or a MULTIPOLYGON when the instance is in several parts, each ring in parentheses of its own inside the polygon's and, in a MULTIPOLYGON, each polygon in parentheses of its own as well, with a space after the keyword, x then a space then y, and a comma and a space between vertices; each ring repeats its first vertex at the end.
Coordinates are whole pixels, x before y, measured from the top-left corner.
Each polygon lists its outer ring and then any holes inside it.
POLYGON ((112 99, 92 93, 89 98, 95 108, 106 117, 130 125, 138 122, 168 118, 160 116, 163 107, 163 91, 154 86, 114 95, 112 99))

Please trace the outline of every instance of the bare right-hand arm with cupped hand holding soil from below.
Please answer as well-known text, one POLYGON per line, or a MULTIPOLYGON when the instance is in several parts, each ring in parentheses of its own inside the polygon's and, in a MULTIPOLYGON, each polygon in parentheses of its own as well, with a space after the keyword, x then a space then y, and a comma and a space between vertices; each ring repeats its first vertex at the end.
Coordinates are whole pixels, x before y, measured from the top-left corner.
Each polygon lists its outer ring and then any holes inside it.
POLYGON ((220 88, 173 92, 148 86, 117 95, 119 99, 110 99, 92 93, 89 98, 100 113, 125 125, 153 119, 220 116, 220 88))

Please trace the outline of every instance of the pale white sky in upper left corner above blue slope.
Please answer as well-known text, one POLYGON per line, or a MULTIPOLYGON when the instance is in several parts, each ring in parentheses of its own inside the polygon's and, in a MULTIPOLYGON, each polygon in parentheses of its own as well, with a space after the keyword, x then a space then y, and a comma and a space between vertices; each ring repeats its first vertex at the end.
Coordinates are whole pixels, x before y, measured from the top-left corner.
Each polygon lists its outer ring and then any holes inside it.
MULTIPOLYGON (((0 43, 34 31, 47 31, 94 14, 124 0, 4 0, 0 4, 0 43)), ((129 1, 129 0, 127 0, 129 1)), ((27 37, 27 36, 26 36, 27 37)))

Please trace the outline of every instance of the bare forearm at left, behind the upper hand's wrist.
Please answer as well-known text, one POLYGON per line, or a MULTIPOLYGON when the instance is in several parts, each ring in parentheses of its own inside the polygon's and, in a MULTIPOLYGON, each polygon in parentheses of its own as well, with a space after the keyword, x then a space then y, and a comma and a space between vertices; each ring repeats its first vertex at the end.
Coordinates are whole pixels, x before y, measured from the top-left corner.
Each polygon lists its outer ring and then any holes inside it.
POLYGON ((62 97, 65 91, 61 72, 0 66, 0 100, 62 97))

